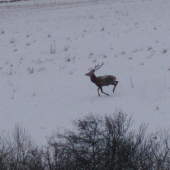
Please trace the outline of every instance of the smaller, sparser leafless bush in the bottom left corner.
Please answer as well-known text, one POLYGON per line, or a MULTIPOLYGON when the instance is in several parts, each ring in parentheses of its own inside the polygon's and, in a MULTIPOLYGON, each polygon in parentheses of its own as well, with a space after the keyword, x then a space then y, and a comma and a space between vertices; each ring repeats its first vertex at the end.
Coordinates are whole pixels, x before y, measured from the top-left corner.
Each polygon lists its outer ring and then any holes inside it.
POLYGON ((15 126, 14 132, 0 138, 1 170, 43 170, 41 152, 25 129, 15 126))

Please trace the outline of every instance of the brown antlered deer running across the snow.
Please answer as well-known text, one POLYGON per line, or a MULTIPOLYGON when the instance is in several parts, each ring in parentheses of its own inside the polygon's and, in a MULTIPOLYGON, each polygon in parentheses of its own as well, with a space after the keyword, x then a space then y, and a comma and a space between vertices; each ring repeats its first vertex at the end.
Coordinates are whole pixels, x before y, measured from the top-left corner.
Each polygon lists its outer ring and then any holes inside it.
POLYGON ((90 72, 86 73, 85 75, 86 76, 89 76, 91 81, 96 84, 96 86, 98 87, 97 91, 98 91, 98 96, 100 97, 100 93, 99 93, 99 90, 101 90, 101 92, 107 96, 109 96, 109 94, 107 93, 104 93, 103 92, 103 89, 102 89, 102 86, 109 86, 109 85, 113 85, 113 93, 115 91, 115 88, 118 84, 118 81, 116 81, 116 77, 115 76, 112 76, 112 75, 104 75, 104 76, 99 76, 97 77, 94 72, 96 70, 98 70, 100 67, 103 66, 104 63, 102 63, 101 65, 95 65, 94 68, 90 68, 88 69, 90 72))

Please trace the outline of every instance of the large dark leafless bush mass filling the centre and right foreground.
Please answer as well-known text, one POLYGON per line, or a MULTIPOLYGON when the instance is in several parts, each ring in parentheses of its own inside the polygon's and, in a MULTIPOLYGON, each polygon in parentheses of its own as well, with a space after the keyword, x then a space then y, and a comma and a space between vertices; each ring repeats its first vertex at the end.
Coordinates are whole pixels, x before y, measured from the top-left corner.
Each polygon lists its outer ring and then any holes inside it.
POLYGON ((147 137, 144 124, 138 131, 130 130, 132 119, 121 111, 104 118, 90 114, 73 124, 75 131, 58 133, 48 142, 56 169, 163 170, 170 166, 168 135, 158 141, 147 137))

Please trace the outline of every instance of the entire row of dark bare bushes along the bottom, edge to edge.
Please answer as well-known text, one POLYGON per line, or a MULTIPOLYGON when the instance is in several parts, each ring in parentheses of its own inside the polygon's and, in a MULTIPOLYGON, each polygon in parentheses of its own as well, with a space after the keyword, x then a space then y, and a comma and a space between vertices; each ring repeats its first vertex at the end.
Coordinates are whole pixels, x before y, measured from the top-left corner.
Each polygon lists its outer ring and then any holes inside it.
POLYGON ((90 114, 73 121, 74 131, 53 134, 36 146, 25 129, 0 136, 0 170, 169 170, 168 131, 146 135, 132 117, 90 114))

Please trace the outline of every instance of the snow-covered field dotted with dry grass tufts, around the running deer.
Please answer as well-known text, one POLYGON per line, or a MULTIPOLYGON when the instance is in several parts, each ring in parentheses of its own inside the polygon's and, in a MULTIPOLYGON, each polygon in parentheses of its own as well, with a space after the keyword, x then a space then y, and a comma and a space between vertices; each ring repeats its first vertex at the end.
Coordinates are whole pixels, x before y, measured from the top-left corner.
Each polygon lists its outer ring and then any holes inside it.
MULTIPOLYGON (((0 4, 0 133, 15 124, 38 143, 89 113, 170 127, 170 1, 0 4), (111 74, 103 90, 85 76, 111 74)), ((49 1, 48 1, 49 2, 49 1)), ((73 1, 72 1, 73 2, 73 1)))

